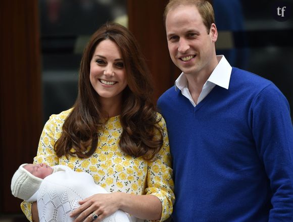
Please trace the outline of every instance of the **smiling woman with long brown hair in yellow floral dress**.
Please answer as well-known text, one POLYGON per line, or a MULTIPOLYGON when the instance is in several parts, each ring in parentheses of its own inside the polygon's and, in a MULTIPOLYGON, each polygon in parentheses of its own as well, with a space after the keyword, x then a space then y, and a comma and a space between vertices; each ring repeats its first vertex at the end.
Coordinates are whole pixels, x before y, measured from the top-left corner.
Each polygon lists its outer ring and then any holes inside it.
MULTIPOLYGON (((151 100, 150 77, 128 29, 107 23, 92 35, 80 64, 76 102, 50 117, 34 158, 34 163, 87 172, 110 192, 81 200, 71 215, 74 221, 102 220, 118 209, 132 221, 171 215, 169 142, 151 100)), ((38 221, 35 202, 21 207, 38 221)))

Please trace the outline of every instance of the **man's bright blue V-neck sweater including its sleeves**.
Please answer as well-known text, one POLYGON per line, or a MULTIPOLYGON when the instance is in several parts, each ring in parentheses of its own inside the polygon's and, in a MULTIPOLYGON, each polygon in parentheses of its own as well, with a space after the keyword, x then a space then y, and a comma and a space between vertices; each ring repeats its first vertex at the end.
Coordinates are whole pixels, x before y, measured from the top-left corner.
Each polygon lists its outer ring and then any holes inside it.
POLYGON ((293 127, 270 81, 233 68, 193 107, 175 91, 158 100, 175 180, 174 221, 293 221, 293 127))

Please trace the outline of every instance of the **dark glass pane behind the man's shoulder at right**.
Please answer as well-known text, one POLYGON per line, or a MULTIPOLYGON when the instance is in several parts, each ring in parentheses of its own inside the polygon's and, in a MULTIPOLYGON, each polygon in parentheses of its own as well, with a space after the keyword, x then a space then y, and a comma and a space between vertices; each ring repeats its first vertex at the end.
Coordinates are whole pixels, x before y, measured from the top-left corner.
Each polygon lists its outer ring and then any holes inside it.
MULTIPOLYGON (((213 0, 217 54, 232 66, 271 80, 293 110, 292 1, 213 0), (279 9, 278 9, 279 8, 279 9), (286 21, 278 18, 286 17, 286 21)), ((293 117, 293 112, 291 112, 293 117)))

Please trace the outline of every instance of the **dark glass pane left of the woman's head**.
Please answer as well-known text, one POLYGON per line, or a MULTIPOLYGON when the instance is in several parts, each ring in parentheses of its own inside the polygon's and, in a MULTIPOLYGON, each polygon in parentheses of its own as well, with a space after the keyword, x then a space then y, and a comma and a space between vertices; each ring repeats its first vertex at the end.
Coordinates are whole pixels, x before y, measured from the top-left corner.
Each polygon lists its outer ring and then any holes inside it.
POLYGON ((107 21, 127 27, 126 0, 40 0, 43 122, 77 96, 81 53, 107 21))

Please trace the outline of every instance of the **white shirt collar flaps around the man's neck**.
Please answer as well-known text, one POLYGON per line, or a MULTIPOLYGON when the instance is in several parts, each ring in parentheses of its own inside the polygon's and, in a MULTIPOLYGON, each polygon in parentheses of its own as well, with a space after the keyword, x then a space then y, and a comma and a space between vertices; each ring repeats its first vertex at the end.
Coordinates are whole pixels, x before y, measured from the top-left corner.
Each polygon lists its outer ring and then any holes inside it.
MULTIPOLYGON (((228 89, 232 67, 230 66, 224 55, 217 55, 217 59, 219 60, 219 63, 210 75, 207 82, 209 81, 225 89, 228 89)), ((175 90, 182 90, 185 87, 187 87, 187 79, 182 72, 180 76, 175 80, 175 90)))

